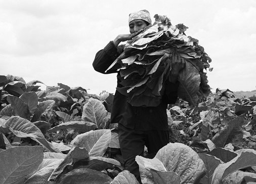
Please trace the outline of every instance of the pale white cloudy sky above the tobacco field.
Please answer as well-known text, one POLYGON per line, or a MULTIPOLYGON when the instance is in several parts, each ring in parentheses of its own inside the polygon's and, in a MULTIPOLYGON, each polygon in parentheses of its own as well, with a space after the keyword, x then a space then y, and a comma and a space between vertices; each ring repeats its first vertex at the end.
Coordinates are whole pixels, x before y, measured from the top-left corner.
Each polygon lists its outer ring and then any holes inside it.
POLYGON ((129 33, 131 12, 166 15, 199 40, 211 57, 215 90, 254 90, 256 1, 254 0, 0 0, 0 75, 81 86, 114 93, 116 74, 94 71, 95 54, 118 34, 129 33))

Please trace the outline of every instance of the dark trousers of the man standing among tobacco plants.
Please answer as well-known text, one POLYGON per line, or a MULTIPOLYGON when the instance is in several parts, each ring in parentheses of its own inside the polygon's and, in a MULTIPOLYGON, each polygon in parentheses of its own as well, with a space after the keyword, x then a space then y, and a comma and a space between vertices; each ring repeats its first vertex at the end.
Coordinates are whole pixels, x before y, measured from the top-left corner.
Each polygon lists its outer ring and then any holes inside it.
POLYGON ((168 130, 134 130, 119 123, 118 140, 124 160, 124 169, 133 173, 141 183, 139 165, 135 157, 143 156, 146 146, 149 154, 147 158, 154 158, 158 150, 169 143, 169 132, 168 130))

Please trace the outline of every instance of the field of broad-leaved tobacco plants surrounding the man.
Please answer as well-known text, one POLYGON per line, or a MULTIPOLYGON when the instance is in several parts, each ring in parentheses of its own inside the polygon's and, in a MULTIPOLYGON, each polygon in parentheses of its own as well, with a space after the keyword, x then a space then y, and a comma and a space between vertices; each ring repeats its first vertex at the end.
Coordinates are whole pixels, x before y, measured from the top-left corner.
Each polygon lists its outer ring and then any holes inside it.
MULTIPOLYGON (((113 94, 0 76, 0 183, 138 183, 124 170, 113 94)), ((143 183, 256 183, 256 96, 216 89, 166 109, 169 144, 137 156, 143 183)))

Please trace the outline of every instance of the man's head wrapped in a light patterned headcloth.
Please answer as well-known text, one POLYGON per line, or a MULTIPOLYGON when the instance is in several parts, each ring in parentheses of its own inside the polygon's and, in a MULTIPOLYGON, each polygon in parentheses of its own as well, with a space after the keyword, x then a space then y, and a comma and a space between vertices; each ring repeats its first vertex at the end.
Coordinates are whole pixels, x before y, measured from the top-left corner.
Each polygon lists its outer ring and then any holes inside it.
POLYGON ((151 24, 150 14, 147 10, 140 10, 129 15, 130 33, 135 33, 151 24))

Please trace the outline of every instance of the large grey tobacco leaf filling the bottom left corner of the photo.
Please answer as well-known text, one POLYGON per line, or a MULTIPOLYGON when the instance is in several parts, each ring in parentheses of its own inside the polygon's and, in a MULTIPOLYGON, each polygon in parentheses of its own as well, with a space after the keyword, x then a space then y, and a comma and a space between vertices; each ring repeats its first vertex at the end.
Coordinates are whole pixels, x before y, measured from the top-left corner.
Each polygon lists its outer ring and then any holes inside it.
POLYGON ((24 177, 34 172, 42 162, 44 148, 15 147, 0 153, 0 183, 24 183, 24 177))

